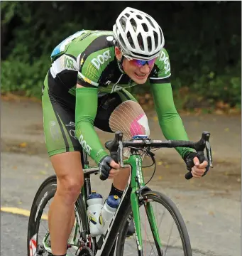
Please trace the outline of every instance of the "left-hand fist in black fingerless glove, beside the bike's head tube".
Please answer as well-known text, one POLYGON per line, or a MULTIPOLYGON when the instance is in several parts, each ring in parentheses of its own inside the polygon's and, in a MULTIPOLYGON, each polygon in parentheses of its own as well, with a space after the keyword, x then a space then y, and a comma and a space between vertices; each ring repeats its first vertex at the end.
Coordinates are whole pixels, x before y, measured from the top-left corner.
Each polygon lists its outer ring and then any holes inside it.
POLYGON ((105 156, 99 163, 100 178, 114 178, 119 173, 119 164, 117 164, 110 156, 105 156))

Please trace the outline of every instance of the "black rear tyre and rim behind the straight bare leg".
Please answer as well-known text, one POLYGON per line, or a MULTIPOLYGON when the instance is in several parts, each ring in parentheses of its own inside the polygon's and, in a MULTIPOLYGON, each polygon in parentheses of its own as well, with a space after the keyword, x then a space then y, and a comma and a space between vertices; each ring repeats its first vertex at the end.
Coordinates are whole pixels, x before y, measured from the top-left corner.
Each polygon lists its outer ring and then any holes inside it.
MULTIPOLYGON (((38 188, 38 191, 35 194, 35 197, 33 199, 33 203, 31 206, 31 213, 28 219, 28 234, 27 234, 28 256, 33 255, 33 253, 31 252, 30 245, 33 245, 34 240, 32 239, 34 238, 35 235, 36 235, 35 246, 38 247, 37 234, 38 234, 38 229, 40 224, 40 218, 42 216, 43 209, 45 208, 46 204, 55 195, 56 187, 57 187, 57 178, 55 175, 53 175, 46 178, 45 181, 43 181, 43 183, 40 185, 40 188, 38 188)), ((84 208, 82 196, 79 196, 77 198, 77 201, 75 203, 75 211, 77 216, 79 217, 79 221, 82 221, 82 230, 87 230, 87 214, 84 208)), ((37 252, 36 252, 36 255, 38 255, 37 252)))

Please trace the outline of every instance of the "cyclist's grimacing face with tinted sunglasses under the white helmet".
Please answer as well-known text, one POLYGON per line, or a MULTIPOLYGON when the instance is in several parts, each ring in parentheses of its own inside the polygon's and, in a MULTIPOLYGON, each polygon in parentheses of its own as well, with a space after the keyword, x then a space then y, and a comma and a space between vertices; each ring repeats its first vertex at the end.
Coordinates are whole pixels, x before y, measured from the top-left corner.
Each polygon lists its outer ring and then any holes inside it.
MULTIPOLYGON (((117 48, 119 49, 119 48, 117 48)), ((116 57, 121 59, 122 53, 120 50, 116 50, 116 57)), ((155 58, 156 59, 156 58, 155 58)), ((142 61, 139 60, 128 60, 124 58, 123 60, 123 71, 138 84, 143 84, 146 82, 148 75, 150 75, 151 70, 155 64, 155 59, 150 60, 148 63, 143 65, 142 61)))

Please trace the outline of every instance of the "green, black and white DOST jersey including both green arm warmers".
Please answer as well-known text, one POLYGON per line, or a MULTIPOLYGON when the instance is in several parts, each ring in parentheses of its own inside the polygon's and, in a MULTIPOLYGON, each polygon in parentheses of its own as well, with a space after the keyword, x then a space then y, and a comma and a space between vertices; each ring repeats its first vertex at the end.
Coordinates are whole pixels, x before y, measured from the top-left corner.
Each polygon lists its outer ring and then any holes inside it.
MULTIPOLYGON (((121 71, 114 48, 111 31, 84 30, 66 38, 51 54, 52 65, 48 78, 45 78, 46 87, 43 88, 48 90, 52 99, 55 97, 55 102, 64 102, 68 109, 75 110, 76 137, 97 164, 107 155, 94 130, 98 96, 143 86, 137 85, 121 71), (77 88, 77 84, 83 87, 77 88)), ((174 105, 170 75, 169 55, 163 48, 145 84, 150 86, 153 93, 155 110, 165 138, 188 140, 174 105)), ((48 127, 45 128, 48 130, 48 127)), ((177 151, 184 157, 192 150, 177 148, 177 151)))

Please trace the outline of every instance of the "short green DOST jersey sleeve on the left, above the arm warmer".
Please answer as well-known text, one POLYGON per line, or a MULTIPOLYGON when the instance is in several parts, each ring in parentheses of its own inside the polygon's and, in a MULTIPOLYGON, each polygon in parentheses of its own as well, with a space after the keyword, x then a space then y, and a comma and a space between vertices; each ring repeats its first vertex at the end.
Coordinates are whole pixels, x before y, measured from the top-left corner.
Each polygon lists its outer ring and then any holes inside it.
POLYGON ((86 53, 81 55, 77 83, 84 87, 98 87, 101 74, 113 58, 110 48, 98 50, 88 56, 86 53))

